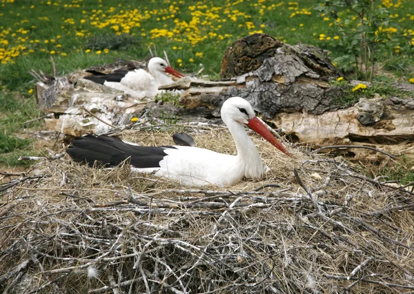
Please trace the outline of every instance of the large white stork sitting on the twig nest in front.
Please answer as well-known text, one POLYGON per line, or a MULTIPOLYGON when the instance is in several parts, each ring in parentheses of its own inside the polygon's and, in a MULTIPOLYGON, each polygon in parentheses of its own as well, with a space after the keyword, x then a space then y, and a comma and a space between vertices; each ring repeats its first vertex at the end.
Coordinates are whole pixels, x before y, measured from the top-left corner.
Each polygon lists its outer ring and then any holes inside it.
POLYGON ((291 156, 255 116, 252 106, 245 99, 227 99, 221 108, 221 119, 235 140, 236 156, 193 146, 137 146, 121 141, 118 137, 106 135, 78 137, 66 152, 75 161, 87 162, 90 165, 99 161, 104 166, 117 166, 130 158, 130 165, 135 171, 155 173, 157 176, 168 177, 191 186, 231 186, 243 177, 263 177, 262 160, 244 126, 255 130, 270 144, 291 156))

